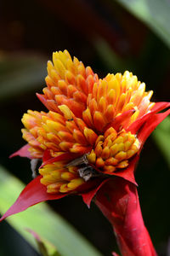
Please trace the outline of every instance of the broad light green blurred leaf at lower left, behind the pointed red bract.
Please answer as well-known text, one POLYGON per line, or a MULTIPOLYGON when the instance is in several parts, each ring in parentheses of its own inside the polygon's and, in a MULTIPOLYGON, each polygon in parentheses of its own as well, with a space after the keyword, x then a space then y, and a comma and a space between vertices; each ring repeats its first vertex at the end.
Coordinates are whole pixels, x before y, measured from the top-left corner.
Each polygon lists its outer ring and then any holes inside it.
MULTIPOLYGON (((1 213, 8 210, 23 188, 23 183, 0 166, 1 213)), ((37 248, 36 241, 26 229, 34 230, 39 236, 52 243, 63 256, 101 256, 101 253, 77 230, 54 213, 45 203, 30 207, 26 212, 7 218, 7 221, 35 248, 37 248)))

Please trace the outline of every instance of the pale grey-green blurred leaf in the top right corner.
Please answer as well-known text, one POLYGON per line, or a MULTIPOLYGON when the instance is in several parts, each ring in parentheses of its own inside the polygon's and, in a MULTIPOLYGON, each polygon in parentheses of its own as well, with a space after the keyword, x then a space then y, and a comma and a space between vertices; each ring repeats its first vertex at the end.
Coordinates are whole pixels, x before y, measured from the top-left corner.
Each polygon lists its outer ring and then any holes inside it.
POLYGON ((170 47, 170 2, 168 0, 116 0, 170 47))

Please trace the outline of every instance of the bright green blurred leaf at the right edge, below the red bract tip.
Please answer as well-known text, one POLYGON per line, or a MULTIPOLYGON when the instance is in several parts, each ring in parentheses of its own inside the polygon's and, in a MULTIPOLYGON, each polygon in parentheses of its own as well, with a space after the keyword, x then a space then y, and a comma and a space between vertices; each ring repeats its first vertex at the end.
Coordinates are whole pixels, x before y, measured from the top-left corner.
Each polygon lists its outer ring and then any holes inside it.
POLYGON ((161 149, 165 160, 167 160, 168 166, 170 166, 170 117, 167 117, 157 126, 156 131, 153 133, 153 137, 158 147, 161 149))

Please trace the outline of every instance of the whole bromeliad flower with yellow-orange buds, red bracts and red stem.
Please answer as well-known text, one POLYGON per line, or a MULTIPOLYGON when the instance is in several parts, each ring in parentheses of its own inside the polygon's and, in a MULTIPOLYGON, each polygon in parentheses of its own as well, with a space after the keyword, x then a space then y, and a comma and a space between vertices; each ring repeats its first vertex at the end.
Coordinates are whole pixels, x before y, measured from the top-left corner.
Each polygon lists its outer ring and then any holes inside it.
MULTIPOLYGON (((82 195, 111 221, 122 255, 156 255, 140 212, 134 168, 145 140, 170 113, 168 102, 150 102, 152 91, 133 73, 99 79, 64 52, 48 61, 47 87, 37 94, 48 112, 28 110, 27 144, 13 154, 42 161, 39 175, 3 218, 41 201, 82 195)), ((1 218, 1 220, 3 220, 1 218)))

